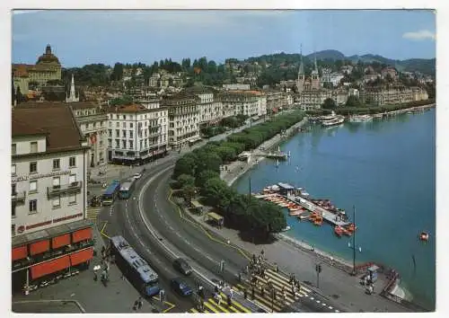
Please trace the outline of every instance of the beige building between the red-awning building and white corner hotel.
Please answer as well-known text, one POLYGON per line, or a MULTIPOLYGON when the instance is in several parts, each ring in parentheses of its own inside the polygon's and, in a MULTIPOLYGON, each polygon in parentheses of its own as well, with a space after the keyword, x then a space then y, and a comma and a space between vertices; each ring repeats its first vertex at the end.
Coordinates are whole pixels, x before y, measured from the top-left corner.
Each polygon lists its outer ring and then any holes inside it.
POLYGON ((97 102, 71 102, 76 123, 87 140, 87 169, 107 163, 108 114, 97 102))

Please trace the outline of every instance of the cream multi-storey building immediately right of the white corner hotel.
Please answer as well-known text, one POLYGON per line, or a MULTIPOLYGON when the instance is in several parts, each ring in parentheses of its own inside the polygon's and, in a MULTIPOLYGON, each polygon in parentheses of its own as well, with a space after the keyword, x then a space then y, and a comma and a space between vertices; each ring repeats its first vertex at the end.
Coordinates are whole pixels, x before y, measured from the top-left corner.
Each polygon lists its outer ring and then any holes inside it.
POLYGON ((161 101, 161 105, 168 111, 169 146, 180 149, 201 139, 199 103, 199 97, 191 93, 167 96, 161 101))

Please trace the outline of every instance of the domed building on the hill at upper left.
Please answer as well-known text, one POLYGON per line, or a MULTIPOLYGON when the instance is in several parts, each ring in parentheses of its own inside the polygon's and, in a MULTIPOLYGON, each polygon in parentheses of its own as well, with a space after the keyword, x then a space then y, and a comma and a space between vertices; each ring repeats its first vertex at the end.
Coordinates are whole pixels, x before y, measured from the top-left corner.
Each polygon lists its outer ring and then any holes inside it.
POLYGON ((13 64, 13 83, 15 88, 21 86, 21 92, 28 93, 27 85, 37 83, 40 86, 47 84, 50 80, 61 79, 61 64, 59 59, 51 52, 49 44, 35 65, 13 64), (28 84, 25 84, 28 82, 28 84))

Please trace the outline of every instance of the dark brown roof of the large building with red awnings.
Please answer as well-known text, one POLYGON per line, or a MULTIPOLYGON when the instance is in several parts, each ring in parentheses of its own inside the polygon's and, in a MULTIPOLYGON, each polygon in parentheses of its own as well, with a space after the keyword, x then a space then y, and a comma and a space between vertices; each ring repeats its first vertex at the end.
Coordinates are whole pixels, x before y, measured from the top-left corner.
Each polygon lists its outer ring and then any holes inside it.
POLYGON ((12 111, 12 136, 47 134, 47 152, 82 148, 72 110, 62 102, 23 102, 12 111), (39 120, 37 120, 39 119, 39 120))

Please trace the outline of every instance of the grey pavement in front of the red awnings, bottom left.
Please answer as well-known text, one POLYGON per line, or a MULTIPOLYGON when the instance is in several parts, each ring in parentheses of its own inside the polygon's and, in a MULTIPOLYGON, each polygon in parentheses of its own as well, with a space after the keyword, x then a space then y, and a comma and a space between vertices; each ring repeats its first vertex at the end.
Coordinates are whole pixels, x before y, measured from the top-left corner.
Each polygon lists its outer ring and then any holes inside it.
MULTIPOLYGON (((74 313, 75 305, 61 305, 64 302, 45 304, 45 301, 49 300, 69 300, 77 301, 88 314, 133 313, 132 307, 139 295, 136 288, 122 278, 117 265, 110 264, 110 282, 107 287, 102 285, 100 278, 97 281, 93 280, 92 269, 101 262, 100 251, 104 244, 101 234, 95 227, 93 237, 97 255, 93 257, 89 269, 81 271, 75 277, 63 279, 57 284, 33 291, 28 296, 13 295, 13 303, 26 302, 14 304, 13 308, 17 308, 17 311, 21 313, 74 313), (30 302, 38 300, 39 303, 30 302)), ((154 306, 144 300, 144 305, 138 312, 154 313, 154 306)))

